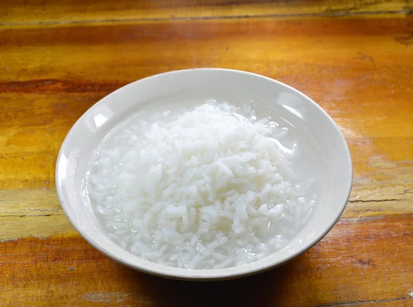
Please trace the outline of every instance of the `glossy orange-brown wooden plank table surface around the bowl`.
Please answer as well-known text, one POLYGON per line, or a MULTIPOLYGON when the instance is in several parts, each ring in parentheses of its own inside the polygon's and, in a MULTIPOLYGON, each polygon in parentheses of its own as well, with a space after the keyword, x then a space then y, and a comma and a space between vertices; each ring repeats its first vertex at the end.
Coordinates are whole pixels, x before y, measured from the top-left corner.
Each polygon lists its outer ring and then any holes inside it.
POLYGON ((0 306, 413 306, 412 14, 411 1, 1 1, 0 306), (292 85, 348 141, 346 211, 268 273, 138 273, 87 244, 60 207, 54 166, 76 119, 131 81, 189 67, 292 85))

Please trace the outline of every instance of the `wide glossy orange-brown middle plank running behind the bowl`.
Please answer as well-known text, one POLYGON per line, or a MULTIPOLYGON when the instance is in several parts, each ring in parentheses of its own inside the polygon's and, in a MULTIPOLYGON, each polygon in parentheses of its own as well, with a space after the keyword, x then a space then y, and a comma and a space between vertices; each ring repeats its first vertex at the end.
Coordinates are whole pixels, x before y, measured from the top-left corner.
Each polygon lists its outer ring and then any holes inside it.
POLYGON ((45 237, 59 225, 72 231, 60 216, 39 217, 52 225, 46 229, 36 218, 17 216, 62 214, 54 193, 56 156, 83 112, 138 78, 193 66, 265 74, 327 110, 346 136, 354 164, 343 218, 412 213, 413 59, 410 47, 396 40, 410 33, 405 19, 160 21, 0 31, 3 240, 45 237), (23 226, 19 233, 9 218, 23 226))

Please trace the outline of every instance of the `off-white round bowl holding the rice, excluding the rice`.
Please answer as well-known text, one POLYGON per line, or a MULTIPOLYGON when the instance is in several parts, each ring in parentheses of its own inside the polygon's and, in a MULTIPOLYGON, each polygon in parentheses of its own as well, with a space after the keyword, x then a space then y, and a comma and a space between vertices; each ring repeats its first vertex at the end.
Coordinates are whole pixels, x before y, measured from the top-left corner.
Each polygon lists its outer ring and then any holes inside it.
MULTIPOLYGON (((304 132, 303 132, 304 133, 304 132)), ((315 155, 304 165, 317 165, 315 155)), ((74 228, 99 251, 145 273, 174 279, 231 279, 279 266, 308 250, 330 231, 346 207, 352 186, 350 152, 341 131, 317 103, 296 89, 271 78, 222 69, 180 70, 130 83, 91 107, 65 138, 56 164, 56 187, 61 205, 74 228), (257 112, 277 112, 284 120, 307 131, 306 139, 319 149, 323 164, 317 167, 319 195, 313 217, 290 243, 257 262, 231 268, 189 270, 142 260, 107 237, 85 193, 85 173, 92 151, 109 131, 129 114, 148 103, 171 104, 210 98, 242 105, 254 100, 257 112)))

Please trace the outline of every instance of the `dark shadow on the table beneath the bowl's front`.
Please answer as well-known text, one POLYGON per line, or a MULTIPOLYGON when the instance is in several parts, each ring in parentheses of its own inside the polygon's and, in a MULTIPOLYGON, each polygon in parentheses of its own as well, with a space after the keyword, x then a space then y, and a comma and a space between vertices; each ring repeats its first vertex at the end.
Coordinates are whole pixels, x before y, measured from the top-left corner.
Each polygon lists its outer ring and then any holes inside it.
POLYGON ((142 297, 150 306, 280 306, 287 303, 291 288, 299 287, 299 277, 308 267, 304 253, 266 273, 226 281, 188 282, 139 272, 128 275, 129 282, 140 284, 132 297, 134 304, 142 306, 142 297))

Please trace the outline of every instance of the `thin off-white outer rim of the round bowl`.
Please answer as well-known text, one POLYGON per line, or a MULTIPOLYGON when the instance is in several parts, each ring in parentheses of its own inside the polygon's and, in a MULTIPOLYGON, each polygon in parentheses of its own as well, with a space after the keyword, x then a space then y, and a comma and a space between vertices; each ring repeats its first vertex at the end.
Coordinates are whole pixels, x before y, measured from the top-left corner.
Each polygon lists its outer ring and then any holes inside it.
MULTIPOLYGON (((156 276, 160 276, 160 277, 166 277, 166 278, 169 278, 169 279, 196 280, 196 281, 226 280, 226 279, 235 279, 235 278, 238 278, 238 277, 244 277, 244 276, 249 276, 249 275, 255 275, 257 273, 262 273, 264 271, 269 271, 272 268, 275 268, 277 266, 285 264, 286 262, 292 260, 293 258, 297 257, 298 255, 301 255, 301 253, 304 253, 304 252, 308 251, 310 248, 315 246, 315 244, 317 244, 320 240, 322 240, 330 232, 332 227, 335 226, 335 224, 337 223, 337 221, 341 217, 344 209, 346 209, 348 199, 350 198, 350 193, 351 193, 351 189, 352 189, 352 181, 353 181, 352 158, 351 158, 351 155, 350 155, 350 149, 348 148, 348 143, 346 142, 346 138, 344 138, 343 133, 341 132, 341 129, 335 123, 335 121, 332 120, 330 115, 320 105, 318 105, 313 99, 306 96, 306 94, 300 92, 298 89, 295 89, 294 87, 291 87, 290 85, 286 85, 285 83, 277 81, 273 78, 269 78, 267 76, 263 76, 261 74, 256 74, 256 73, 253 73, 253 72, 246 72, 246 71, 243 71, 243 70, 231 70, 231 69, 226 69, 226 68, 214 68, 214 67, 190 68, 190 69, 184 69, 184 70, 172 70, 172 71, 169 71, 169 72, 162 72, 160 74, 154 74, 154 75, 151 75, 151 76, 147 76, 145 78, 141 78, 137 81, 128 83, 127 85, 124 85, 123 87, 120 87, 120 88, 114 90, 113 92, 107 94, 103 98, 100 98, 100 100, 98 100, 96 103, 94 103, 94 105, 89 107, 85 111, 85 113, 83 113, 82 116, 80 118, 78 118, 78 120, 76 120, 74 125, 72 125, 70 130, 67 132, 67 135, 65 136, 65 139, 62 142, 61 148, 59 149, 59 154, 57 156, 56 169, 55 169, 56 192, 57 192, 57 195, 58 195, 58 198, 59 198, 59 202, 61 203, 61 207, 63 208, 63 211, 65 212, 65 215, 67 216, 67 218, 70 221, 70 223, 72 224, 72 226, 74 226, 74 229, 76 229, 76 231, 89 244, 91 244, 92 246, 94 246, 94 248, 96 248, 98 251, 100 251, 100 253, 103 253, 104 255, 111 258, 112 260, 115 260, 116 262, 120 262, 121 264, 123 264, 123 265, 125 265, 129 268, 133 268, 134 270, 137 270, 137 271, 140 271, 140 272, 143 272, 143 273, 148 273, 150 275, 156 275, 156 276), (233 72, 233 73, 236 73, 236 74, 248 74, 248 75, 254 76, 256 78, 262 78, 262 79, 265 79, 266 81, 271 81, 273 83, 276 83, 277 85, 280 85, 282 87, 286 87, 286 88, 290 89, 290 91, 297 94, 297 96, 301 96, 301 98, 304 98, 304 100, 306 100, 307 103, 313 104, 317 108, 317 110, 319 112, 321 112, 321 114, 323 114, 326 117, 326 119, 328 119, 328 121, 332 124, 332 127, 335 127, 335 130, 337 131, 338 136, 339 136, 339 140, 340 140, 340 142, 343 143, 344 148, 346 149, 346 159, 347 159, 348 165, 350 166, 348 168, 348 174, 347 174, 348 175, 348 182, 347 182, 347 187, 346 187, 346 197, 342 200, 342 203, 340 205, 340 209, 337 211, 335 217, 331 220, 331 222, 328 224, 326 229, 324 229, 324 231, 322 231, 319 235, 313 237, 310 240, 310 244, 301 246, 300 248, 297 249, 297 251, 295 251, 293 253, 290 253, 288 256, 284 257, 283 259, 281 259, 277 262, 268 262, 267 264, 259 266, 257 268, 248 268, 246 270, 245 269, 244 270, 240 269, 240 270, 234 271, 233 273, 222 272, 222 271, 226 271, 228 268, 209 269, 209 270, 195 270, 195 269, 190 270, 190 269, 187 269, 187 268, 173 268, 173 270, 171 270, 171 271, 177 271, 177 272, 176 273, 168 273, 166 271, 162 271, 162 267, 164 267, 164 266, 162 266, 161 264, 157 264, 158 266, 160 266, 160 269, 157 270, 157 269, 153 269, 153 268, 147 268, 147 267, 141 266, 139 264, 134 264, 132 262, 129 262, 129 261, 123 259, 122 257, 118 257, 118 255, 114 255, 110 251, 107 251, 105 248, 103 248, 102 246, 100 246, 99 244, 94 242, 94 240, 92 240, 92 238, 89 237, 89 235, 87 235, 87 233, 85 233, 85 231, 83 231, 83 229, 81 229, 81 225, 78 225, 74 221, 74 218, 72 218, 72 216, 70 215, 70 213, 67 209, 67 204, 65 203, 65 200, 63 199, 63 195, 61 193, 61 184, 59 184, 59 162, 61 160, 61 154, 63 152, 63 149, 65 148, 67 139, 72 134, 72 131, 76 128, 77 125, 79 125, 81 120, 83 120, 85 118, 85 116, 87 116, 87 113, 89 112, 90 109, 94 108, 102 100, 107 99, 108 96, 112 96, 116 92, 123 91, 126 87, 131 87, 131 86, 134 86, 136 83, 140 83, 142 81, 146 81, 146 80, 151 79, 151 78, 158 78, 159 76, 162 76, 162 75, 165 75, 165 74, 171 74, 171 75, 172 74, 182 74, 182 73, 185 74, 185 73, 190 73, 190 72, 194 72, 194 71, 233 72), (180 273, 178 273, 178 271, 180 271, 180 273), (213 274, 213 275, 211 275, 211 274, 204 275, 204 274, 202 274, 202 271, 209 271, 210 273, 214 272, 215 274, 213 274), (191 274, 188 274, 188 273, 191 273, 191 274)), ((165 266, 165 267, 166 268, 171 268, 171 267, 167 267, 167 266, 165 266)), ((236 268, 242 268, 242 266, 231 267, 232 270, 234 270, 236 268)))

